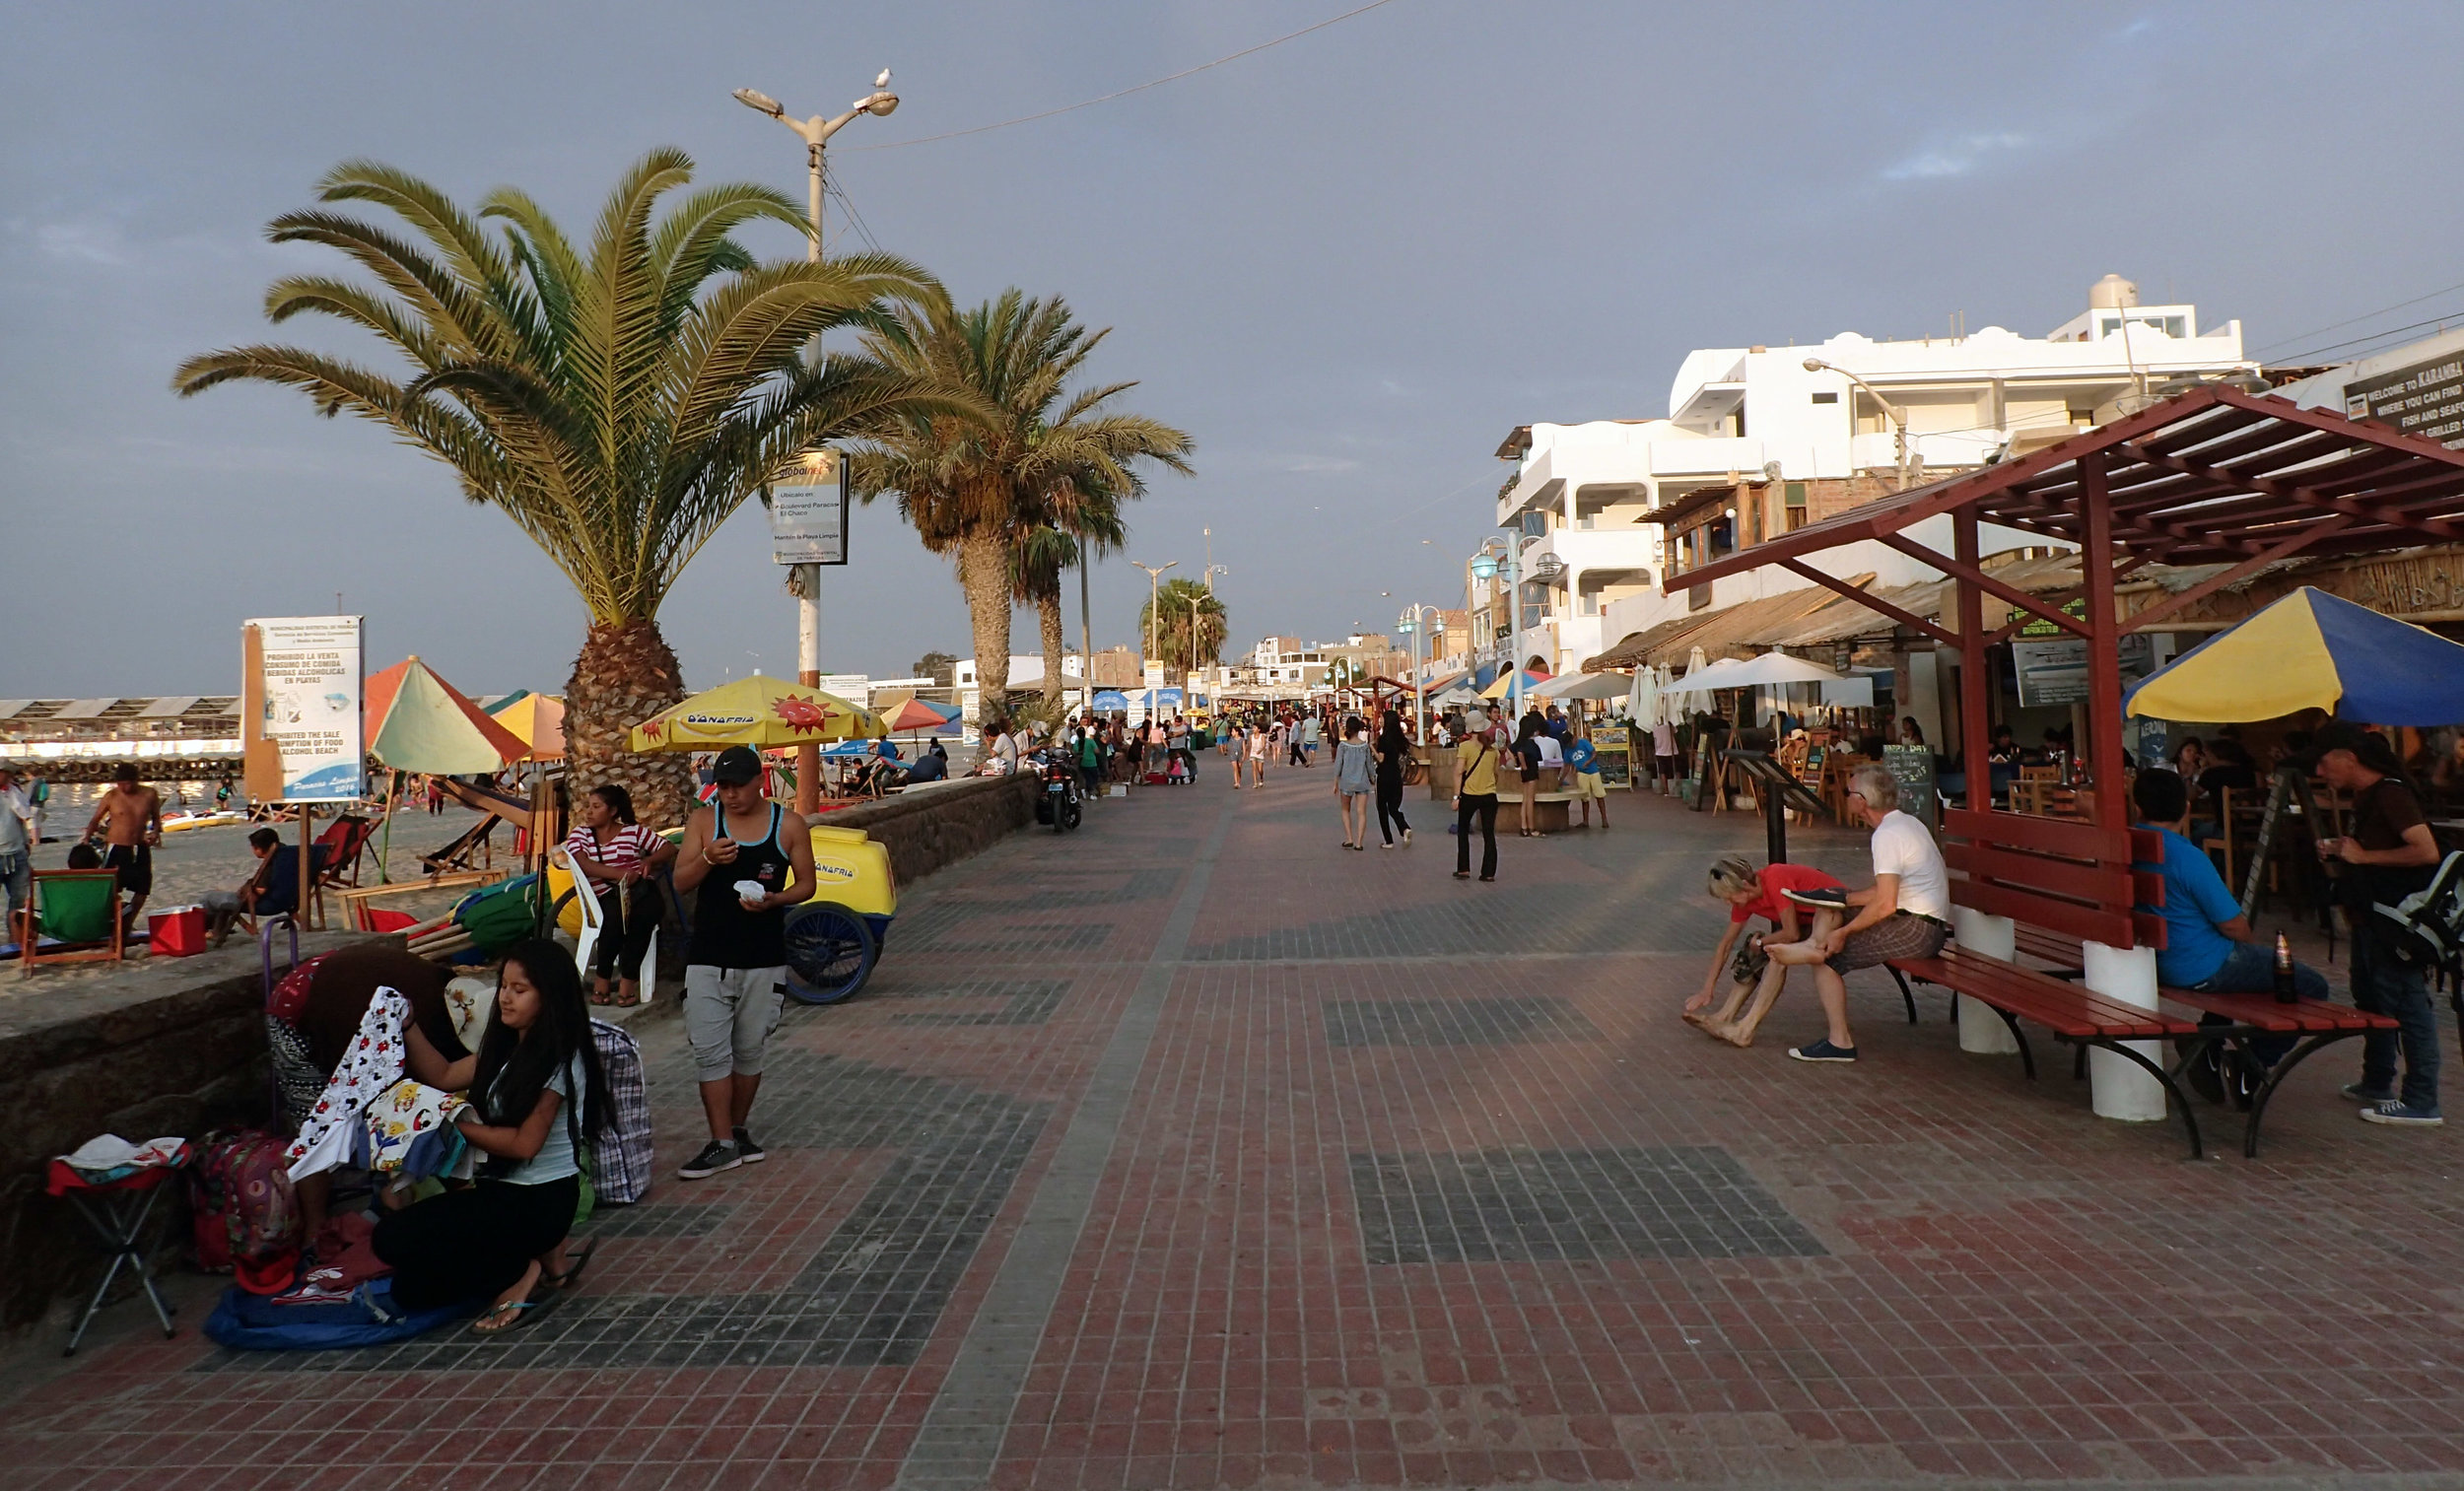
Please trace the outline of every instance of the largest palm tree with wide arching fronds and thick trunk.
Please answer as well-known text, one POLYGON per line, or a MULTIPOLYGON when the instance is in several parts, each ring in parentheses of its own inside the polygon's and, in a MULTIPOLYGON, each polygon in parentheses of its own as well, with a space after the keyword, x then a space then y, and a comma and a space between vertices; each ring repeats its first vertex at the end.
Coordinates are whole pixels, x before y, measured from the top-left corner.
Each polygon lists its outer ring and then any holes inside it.
POLYGON ((685 693, 658 606, 692 555, 813 444, 968 409, 870 357, 803 355, 830 328, 890 325, 892 306, 941 298, 929 274, 890 254, 754 261, 729 234, 761 219, 803 232, 803 212, 759 185, 702 187, 658 212, 690 177, 680 150, 650 150, 577 246, 517 190, 466 212, 414 175, 345 163, 318 200, 370 202, 409 232, 328 209, 276 217, 276 244, 340 249, 377 283, 286 276, 266 318, 335 315, 409 367, 251 345, 172 377, 180 394, 286 384, 320 414, 375 419, 513 518, 589 606, 567 685, 572 771, 623 784, 653 823, 690 801, 685 757, 631 754, 626 732, 685 693))

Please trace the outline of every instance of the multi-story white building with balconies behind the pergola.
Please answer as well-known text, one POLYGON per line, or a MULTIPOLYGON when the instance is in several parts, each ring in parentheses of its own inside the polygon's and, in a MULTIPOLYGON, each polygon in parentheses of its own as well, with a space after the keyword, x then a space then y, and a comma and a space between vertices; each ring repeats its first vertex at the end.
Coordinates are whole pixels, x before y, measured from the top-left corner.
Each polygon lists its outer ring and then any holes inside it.
MULTIPOLYGON (((1880 495, 1902 473, 1932 481, 2053 444, 2190 382, 2257 375, 2242 357, 2240 320, 2200 330, 2195 306, 2136 301, 2129 281, 2104 276, 2087 311, 2043 338, 1988 325, 1900 343, 1841 333, 1816 345, 1705 347, 1678 367, 1666 419, 1518 426, 1498 446, 1515 463, 1498 490, 1498 525, 1538 540, 1523 552, 1528 577, 1552 574, 1525 584, 1513 651, 1552 670, 1579 668, 1688 609, 1811 584, 1767 569, 1725 579, 1717 594, 1671 587, 1673 572, 1730 552, 1740 520, 1752 542, 1850 493, 1880 495), (1671 545, 1663 510, 1710 488, 1747 495, 1688 513, 1685 545, 1671 545)), ((1469 604, 1476 616, 1498 616, 1473 636, 1473 651, 1493 663, 1506 656, 1506 626, 1503 604, 1488 599, 1473 591, 1469 604)))

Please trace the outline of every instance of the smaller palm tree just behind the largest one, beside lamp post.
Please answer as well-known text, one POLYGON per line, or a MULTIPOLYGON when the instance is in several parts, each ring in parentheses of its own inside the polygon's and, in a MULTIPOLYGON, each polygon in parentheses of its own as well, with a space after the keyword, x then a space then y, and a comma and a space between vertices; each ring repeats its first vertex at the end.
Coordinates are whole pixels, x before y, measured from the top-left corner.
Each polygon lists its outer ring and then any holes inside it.
MULTIPOLYGON (((1047 513, 1064 488, 1136 490, 1141 463, 1188 473, 1193 441, 1143 414, 1106 409, 1136 382, 1069 392, 1109 330, 1087 330, 1057 296, 1030 301, 1013 288, 971 311, 912 303, 894 318, 865 338, 867 350, 991 414, 912 412, 872 429, 875 446, 850 461, 855 490, 865 500, 897 493, 924 547, 956 557, 976 680, 998 707, 1010 688, 1010 604, 1020 591, 1013 550, 1027 532, 1055 527, 1047 513)), ((1057 604, 1055 594, 1052 619, 1057 604)))

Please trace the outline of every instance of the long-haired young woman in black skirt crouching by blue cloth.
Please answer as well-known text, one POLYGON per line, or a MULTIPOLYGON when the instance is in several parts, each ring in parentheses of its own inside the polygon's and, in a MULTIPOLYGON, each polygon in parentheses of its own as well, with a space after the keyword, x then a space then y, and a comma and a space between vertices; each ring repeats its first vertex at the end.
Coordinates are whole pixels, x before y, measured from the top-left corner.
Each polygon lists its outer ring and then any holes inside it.
POLYGON ((394 1269, 394 1309, 488 1299, 471 1328, 498 1336, 540 1318, 589 1262, 586 1249, 564 1262, 564 1235, 582 1205, 579 1156, 614 1109, 572 954, 545 939, 505 954, 478 1055, 446 1087, 463 1082, 471 1107, 456 1124, 485 1156, 478 1183, 387 1213, 370 1242, 394 1269))

